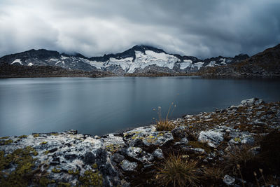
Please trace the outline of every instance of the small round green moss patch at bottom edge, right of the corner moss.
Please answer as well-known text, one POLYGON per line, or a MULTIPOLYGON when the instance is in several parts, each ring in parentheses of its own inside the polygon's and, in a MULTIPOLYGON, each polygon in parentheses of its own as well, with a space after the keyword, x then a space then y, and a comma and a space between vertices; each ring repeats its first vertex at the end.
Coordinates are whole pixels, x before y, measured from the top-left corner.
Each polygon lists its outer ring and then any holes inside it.
POLYGON ((79 177, 79 181, 82 183, 81 186, 102 186, 103 177, 98 171, 86 170, 84 175, 79 177))

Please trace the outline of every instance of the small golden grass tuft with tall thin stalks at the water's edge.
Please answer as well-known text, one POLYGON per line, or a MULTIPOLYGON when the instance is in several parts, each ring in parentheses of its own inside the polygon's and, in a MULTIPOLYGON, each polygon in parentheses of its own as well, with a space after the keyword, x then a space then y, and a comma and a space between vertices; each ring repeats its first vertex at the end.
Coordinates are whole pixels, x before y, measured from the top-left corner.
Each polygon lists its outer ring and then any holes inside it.
MULTIPOLYGON (((162 118, 162 107, 158 106, 158 120, 155 120, 156 128, 158 131, 170 131, 174 129, 175 125, 168 119, 168 117, 169 115, 172 115, 175 107, 176 104, 172 102, 169 106, 167 116, 165 118, 162 118)), ((153 110, 155 111, 155 109, 153 110)))

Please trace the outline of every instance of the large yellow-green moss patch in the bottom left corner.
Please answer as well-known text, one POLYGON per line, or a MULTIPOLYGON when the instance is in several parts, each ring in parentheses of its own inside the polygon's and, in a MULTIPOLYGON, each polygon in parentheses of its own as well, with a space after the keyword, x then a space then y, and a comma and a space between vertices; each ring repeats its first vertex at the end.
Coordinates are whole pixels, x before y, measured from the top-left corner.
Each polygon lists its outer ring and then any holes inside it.
POLYGON ((36 159, 32 158, 34 148, 27 146, 6 154, 0 151, 0 171, 8 169, 10 165, 15 165, 15 170, 8 174, 0 172, 0 186, 27 186, 33 176, 32 169, 36 159))

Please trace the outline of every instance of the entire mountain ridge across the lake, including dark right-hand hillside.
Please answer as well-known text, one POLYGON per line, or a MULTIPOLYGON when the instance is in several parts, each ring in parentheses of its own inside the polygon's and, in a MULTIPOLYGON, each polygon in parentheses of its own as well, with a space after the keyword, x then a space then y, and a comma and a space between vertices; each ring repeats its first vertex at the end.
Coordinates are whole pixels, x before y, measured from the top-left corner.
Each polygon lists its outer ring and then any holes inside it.
POLYGON ((169 54, 152 46, 134 46, 123 53, 102 57, 85 57, 80 53, 59 54, 52 50, 28 50, 6 55, 1 63, 22 66, 52 66, 82 71, 110 71, 117 75, 145 74, 197 74, 243 76, 279 74, 279 46, 269 48, 253 57, 240 54, 235 57, 211 57, 200 60, 193 56, 169 54), (278 64, 278 65, 277 65, 278 64))

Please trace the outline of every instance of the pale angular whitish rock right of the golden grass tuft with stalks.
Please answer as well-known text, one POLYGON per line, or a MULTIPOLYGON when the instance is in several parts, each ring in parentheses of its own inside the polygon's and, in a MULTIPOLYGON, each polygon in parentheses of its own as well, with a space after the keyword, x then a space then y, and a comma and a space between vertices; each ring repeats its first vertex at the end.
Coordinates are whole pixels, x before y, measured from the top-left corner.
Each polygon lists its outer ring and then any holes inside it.
POLYGON ((215 130, 202 131, 198 141, 205 142, 209 146, 216 148, 223 141, 223 133, 215 130))

